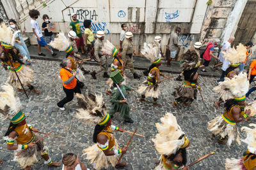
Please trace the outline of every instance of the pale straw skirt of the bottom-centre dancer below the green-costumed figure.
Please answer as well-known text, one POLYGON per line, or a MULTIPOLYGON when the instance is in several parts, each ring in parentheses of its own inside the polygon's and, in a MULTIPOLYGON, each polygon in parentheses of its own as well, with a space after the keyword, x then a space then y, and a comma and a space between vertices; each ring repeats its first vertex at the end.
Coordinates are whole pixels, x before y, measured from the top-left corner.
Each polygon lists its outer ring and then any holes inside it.
MULTIPOLYGON (((118 150, 119 146, 117 141, 115 140, 115 146, 112 150, 118 150)), ((102 152, 97 144, 90 146, 89 148, 86 148, 83 150, 83 155, 87 155, 86 159, 90 160, 90 164, 93 164, 93 168, 95 169, 102 169, 107 168, 109 166, 115 167, 117 161, 118 161, 118 155, 113 156, 106 156, 104 152, 102 152)), ((82 156, 83 156, 82 155, 82 156)))

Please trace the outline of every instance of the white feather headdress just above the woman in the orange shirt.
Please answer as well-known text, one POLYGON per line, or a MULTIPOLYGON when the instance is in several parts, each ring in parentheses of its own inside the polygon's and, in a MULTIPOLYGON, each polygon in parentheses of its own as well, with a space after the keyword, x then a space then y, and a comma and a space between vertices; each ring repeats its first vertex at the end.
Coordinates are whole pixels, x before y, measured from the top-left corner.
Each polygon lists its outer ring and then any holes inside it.
POLYGON ((61 52, 70 53, 73 51, 72 46, 70 46, 70 43, 63 32, 57 34, 56 38, 54 38, 54 41, 50 42, 50 45, 53 48, 60 50, 61 52))

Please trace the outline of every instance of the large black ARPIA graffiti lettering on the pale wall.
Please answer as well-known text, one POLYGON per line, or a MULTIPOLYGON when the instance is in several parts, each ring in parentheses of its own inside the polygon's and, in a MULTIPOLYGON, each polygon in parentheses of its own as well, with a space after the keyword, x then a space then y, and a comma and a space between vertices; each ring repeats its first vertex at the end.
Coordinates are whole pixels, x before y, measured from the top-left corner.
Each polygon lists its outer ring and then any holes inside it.
POLYGON ((68 16, 70 16, 70 20, 72 19, 71 13, 76 13, 78 20, 97 20, 98 15, 95 10, 83 10, 74 8, 68 8, 68 16))

